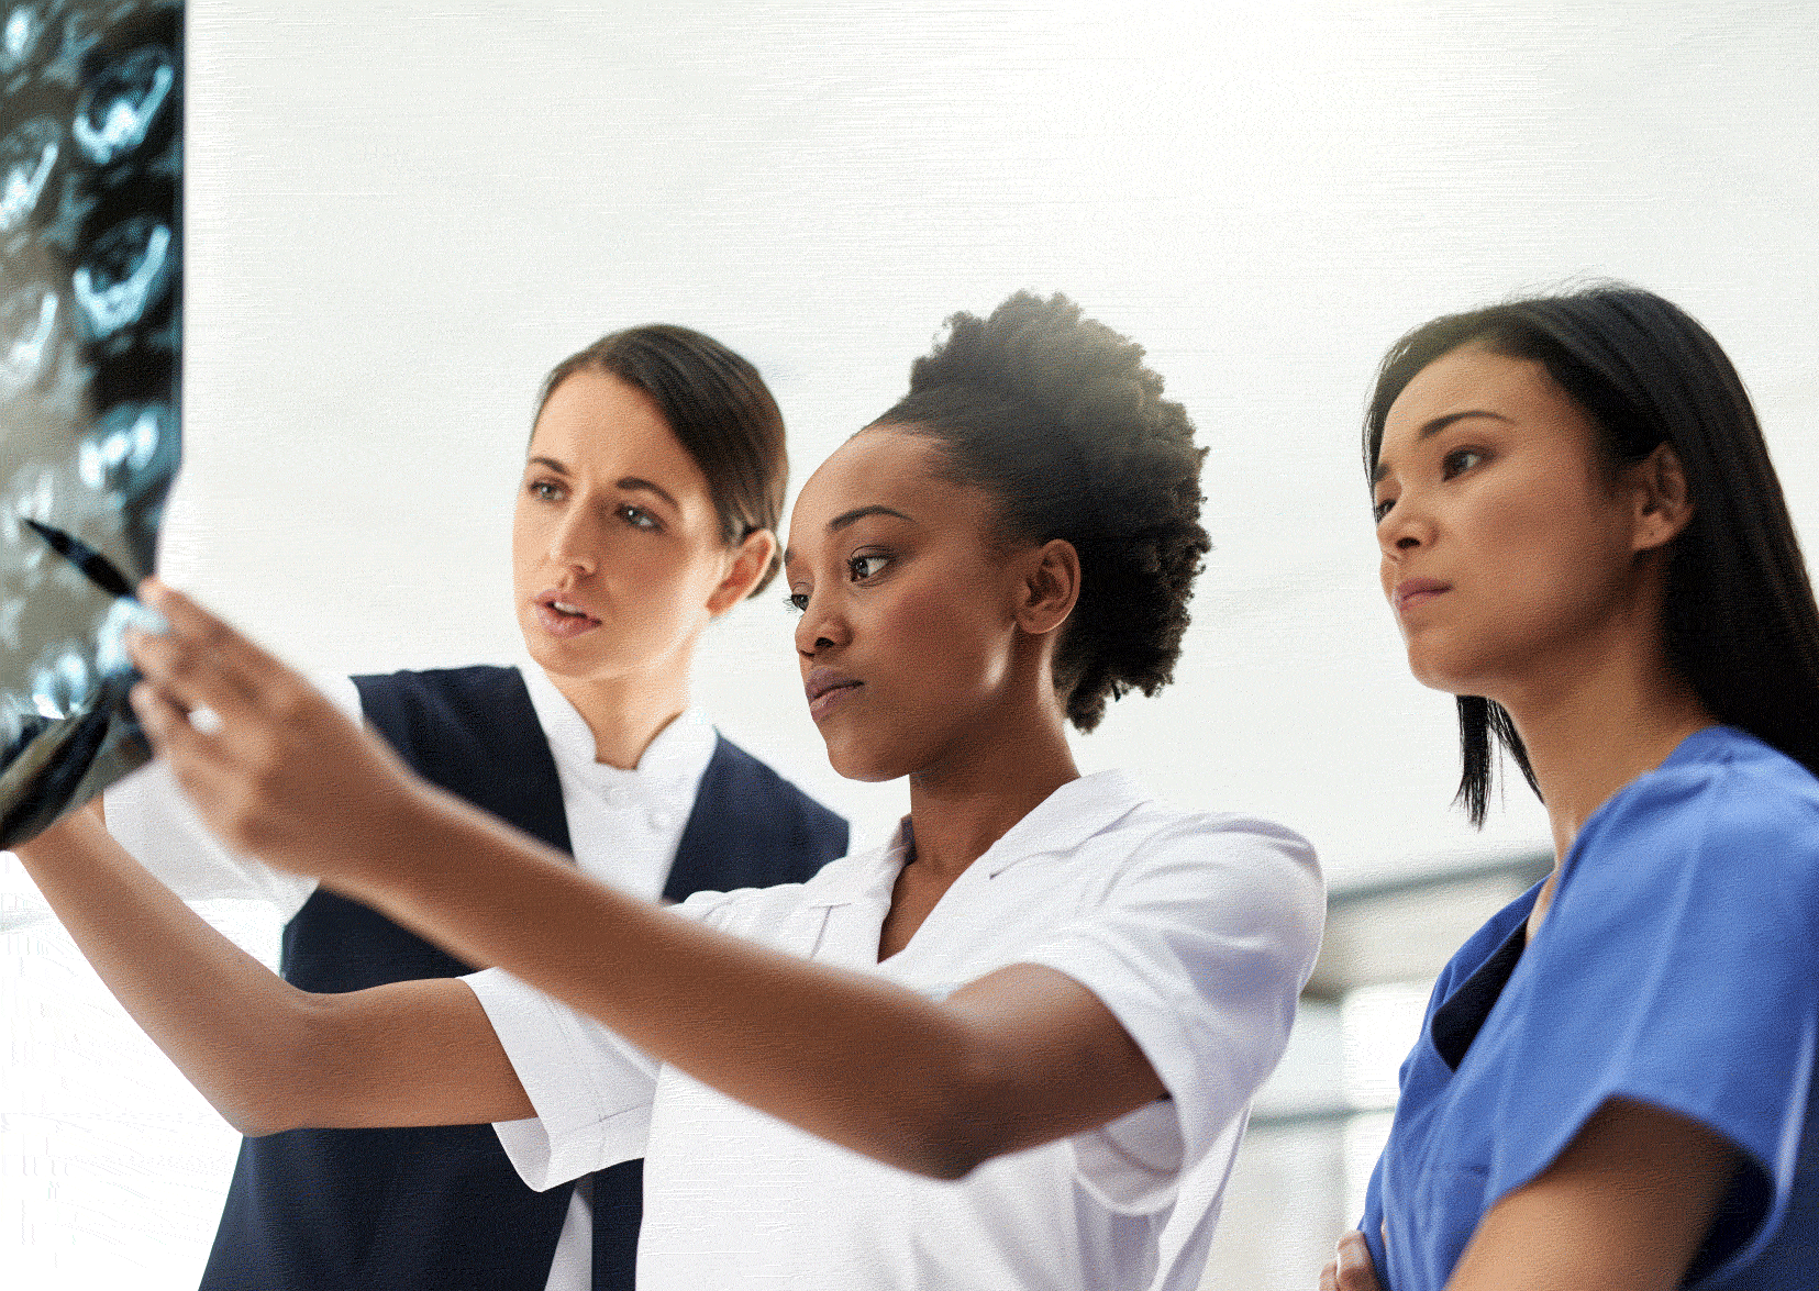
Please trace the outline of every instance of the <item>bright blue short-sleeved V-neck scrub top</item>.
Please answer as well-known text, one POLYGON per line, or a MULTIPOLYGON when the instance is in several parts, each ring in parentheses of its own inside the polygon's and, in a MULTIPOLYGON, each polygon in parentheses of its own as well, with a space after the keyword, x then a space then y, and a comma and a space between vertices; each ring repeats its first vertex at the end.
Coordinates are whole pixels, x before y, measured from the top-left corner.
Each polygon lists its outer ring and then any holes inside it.
POLYGON ((1744 1166, 1688 1287, 1819 1286, 1819 780, 1688 736, 1441 973, 1364 1218, 1386 1291, 1439 1291, 1484 1213, 1606 1098, 1704 1122, 1744 1166), (1388 1251, 1379 1233, 1388 1227, 1388 1251))

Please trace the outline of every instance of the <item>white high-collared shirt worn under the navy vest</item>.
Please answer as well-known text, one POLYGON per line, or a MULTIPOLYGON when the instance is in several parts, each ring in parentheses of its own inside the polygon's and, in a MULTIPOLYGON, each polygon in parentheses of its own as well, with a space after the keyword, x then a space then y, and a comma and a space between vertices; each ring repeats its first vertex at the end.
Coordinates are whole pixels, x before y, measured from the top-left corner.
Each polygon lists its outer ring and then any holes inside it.
MULTIPOLYGON (((588 720, 535 664, 520 664, 537 722, 562 784, 569 849, 577 867, 604 884, 655 900, 675 864, 695 793, 713 756, 713 726, 688 709, 666 726, 631 771, 595 762, 588 720)), ((351 678, 315 678, 335 706, 360 720, 351 678)), ((315 878, 227 851, 196 816, 162 758, 107 789, 107 831, 186 900, 266 900, 289 922, 317 889, 315 878)), ((593 1266, 588 1191, 569 1202, 546 1291, 584 1291, 593 1266)))

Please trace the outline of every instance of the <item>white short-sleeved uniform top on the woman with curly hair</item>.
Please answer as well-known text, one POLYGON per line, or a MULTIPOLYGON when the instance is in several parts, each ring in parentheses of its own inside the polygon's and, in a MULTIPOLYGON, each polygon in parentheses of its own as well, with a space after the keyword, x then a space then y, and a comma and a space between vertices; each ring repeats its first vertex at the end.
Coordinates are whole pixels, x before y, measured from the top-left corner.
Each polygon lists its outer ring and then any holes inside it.
POLYGON ((677 909, 931 998, 1006 964, 1046 964, 1111 1009, 1170 1098, 930 1180, 753 1111, 491 969, 464 980, 537 1109, 497 1127, 518 1173, 551 1187, 644 1156, 640 1291, 1197 1286, 1246 1107, 1319 949, 1311 849, 1264 820, 1166 809, 1100 773, 999 838, 879 964, 902 840, 808 884, 697 893, 677 909), (1190 1173, 1215 1182, 1177 1189, 1190 1173), (1197 1213, 1170 1224, 1177 1193, 1197 1213), (1164 1244, 1164 1224, 1188 1236, 1164 1244))

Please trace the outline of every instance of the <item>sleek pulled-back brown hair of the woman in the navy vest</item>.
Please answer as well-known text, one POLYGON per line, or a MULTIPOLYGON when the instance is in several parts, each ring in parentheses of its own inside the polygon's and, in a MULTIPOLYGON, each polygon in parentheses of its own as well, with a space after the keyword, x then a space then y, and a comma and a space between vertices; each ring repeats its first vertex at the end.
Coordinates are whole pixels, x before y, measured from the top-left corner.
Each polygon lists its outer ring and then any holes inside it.
MULTIPOLYGON (((606 373, 651 396, 669 433, 708 476, 708 493, 728 545, 759 529, 777 533, 789 482, 784 416, 759 369, 689 327, 628 327, 569 355, 544 378, 538 416, 557 385, 575 373, 606 373)), ((751 589, 764 591, 779 556, 751 589)))

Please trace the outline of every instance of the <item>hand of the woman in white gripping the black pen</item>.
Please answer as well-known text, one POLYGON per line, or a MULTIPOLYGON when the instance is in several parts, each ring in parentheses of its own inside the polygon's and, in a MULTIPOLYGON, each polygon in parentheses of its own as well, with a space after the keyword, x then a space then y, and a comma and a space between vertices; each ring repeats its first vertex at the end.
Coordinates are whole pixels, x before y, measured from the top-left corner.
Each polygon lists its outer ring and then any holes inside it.
POLYGON ((127 646, 133 709, 202 820, 229 847, 318 878, 409 836, 420 782, 298 673, 156 578, 162 635, 127 646))

